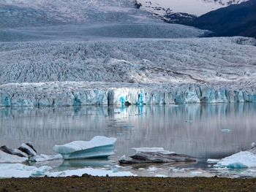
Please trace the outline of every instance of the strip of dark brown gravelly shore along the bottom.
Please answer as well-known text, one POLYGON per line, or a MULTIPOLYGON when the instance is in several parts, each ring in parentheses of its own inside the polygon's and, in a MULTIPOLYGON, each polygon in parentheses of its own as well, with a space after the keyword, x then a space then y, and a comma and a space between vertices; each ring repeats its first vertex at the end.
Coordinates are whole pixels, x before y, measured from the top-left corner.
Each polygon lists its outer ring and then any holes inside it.
POLYGON ((44 177, 3 179, 0 191, 256 191, 256 179, 44 177))

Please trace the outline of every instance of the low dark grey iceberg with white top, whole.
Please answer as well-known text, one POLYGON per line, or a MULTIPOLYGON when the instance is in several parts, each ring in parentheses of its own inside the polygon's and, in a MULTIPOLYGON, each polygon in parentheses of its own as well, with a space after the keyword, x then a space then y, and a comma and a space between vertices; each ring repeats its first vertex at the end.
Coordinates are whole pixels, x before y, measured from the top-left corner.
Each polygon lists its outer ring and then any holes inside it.
POLYGON ((164 150, 162 147, 142 147, 133 148, 135 155, 130 156, 132 160, 125 160, 121 158, 120 164, 146 164, 146 163, 169 163, 169 162, 183 162, 183 161, 197 161, 189 155, 177 154, 164 150))

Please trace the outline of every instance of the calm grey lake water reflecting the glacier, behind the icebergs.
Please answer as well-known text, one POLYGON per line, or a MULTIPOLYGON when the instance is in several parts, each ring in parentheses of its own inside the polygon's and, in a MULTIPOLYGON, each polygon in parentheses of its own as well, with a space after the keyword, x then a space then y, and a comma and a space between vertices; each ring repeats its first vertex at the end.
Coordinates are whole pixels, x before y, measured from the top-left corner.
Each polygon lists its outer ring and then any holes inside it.
POLYGON ((132 147, 165 147, 200 159, 246 150, 256 141, 256 104, 0 108, 0 145, 53 145, 94 136, 116 137, 117 160, 132 147), (230 129, 225 133, 222 129, 230 129))

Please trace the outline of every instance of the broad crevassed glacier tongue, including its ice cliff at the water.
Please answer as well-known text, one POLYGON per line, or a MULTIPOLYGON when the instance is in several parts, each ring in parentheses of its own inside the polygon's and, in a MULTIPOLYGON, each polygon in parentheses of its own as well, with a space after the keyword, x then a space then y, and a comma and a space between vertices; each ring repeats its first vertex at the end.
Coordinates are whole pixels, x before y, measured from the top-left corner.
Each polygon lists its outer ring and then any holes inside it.
POLYGON ((246 37, 0 42, 0 106, 256 102, 246 37))

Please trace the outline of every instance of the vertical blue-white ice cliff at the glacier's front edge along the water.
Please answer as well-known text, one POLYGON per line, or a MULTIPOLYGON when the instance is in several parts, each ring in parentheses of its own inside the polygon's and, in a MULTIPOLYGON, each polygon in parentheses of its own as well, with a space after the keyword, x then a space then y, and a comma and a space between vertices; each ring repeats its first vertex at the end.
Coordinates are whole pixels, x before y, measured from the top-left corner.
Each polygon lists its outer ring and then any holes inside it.
POLYGON ((45 82, 0 86, 0 106, 60 107, 80 105, 256 102, 256 89, 214 85, 45 82))

